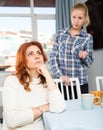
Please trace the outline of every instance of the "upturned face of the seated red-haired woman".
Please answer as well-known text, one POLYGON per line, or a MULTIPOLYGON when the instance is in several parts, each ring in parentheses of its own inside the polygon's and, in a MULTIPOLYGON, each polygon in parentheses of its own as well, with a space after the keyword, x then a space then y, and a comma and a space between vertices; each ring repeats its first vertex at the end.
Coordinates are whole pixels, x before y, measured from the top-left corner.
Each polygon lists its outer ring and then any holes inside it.
POLYGON ((26 50, 26 67, 30 70, 37 69, 44 63, 41 50, 37 46, 30 46, 26 50))

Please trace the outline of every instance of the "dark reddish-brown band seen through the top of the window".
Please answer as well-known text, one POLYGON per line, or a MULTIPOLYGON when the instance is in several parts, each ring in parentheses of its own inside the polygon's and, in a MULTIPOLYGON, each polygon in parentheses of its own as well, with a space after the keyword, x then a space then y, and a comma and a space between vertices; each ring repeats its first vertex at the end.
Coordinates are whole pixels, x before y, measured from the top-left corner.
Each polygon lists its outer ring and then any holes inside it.
MULTIPOLYGON (((35 7, 55 7, 55 0, 34 0, 35 7)), ((0 6, 28 7, 30 0, 0 0, 0 6)))

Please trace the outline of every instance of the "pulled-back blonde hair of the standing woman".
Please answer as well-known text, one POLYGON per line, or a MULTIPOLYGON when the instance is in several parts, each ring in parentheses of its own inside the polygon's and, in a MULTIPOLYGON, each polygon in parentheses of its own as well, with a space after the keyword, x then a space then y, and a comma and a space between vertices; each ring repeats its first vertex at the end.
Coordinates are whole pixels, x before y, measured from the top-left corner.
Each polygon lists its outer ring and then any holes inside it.
POLYGON ((88 26, 90 24, 90 19, 89 19, 89 13, 88 13, 88 8, 86 6, 86 4, 84 3, 77 3, 73 6, 71 13, 75 10, 82 10, 84 12, 84 15, 86 17, 86 21, 84 23, 85 26, 88 26))

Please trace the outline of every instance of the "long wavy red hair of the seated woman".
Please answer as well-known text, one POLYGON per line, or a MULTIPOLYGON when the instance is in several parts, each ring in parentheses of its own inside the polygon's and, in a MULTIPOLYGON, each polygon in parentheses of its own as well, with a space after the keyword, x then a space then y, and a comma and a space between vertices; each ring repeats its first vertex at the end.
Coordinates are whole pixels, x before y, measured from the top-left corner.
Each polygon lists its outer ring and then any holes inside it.
MULTIPOLYGON (((41 43, 37 42, 37 41, 31 41, 31 42, 26 42, 23 43, 16 54, 16 73, 14 75, 16 75, 20 81, 20 83, 24 86, 24 89, 26 91, 30 91, 30 87, 29 87, 29 83, 32 81, 30 75, 28 74, 27 70, 26 70, 26 58, 25 58, 25 53, 28 47, 30 46, 37 46, 42 53, 44 62, 47 61, 47 56, 43 50, 43 47, 41 45, 41 43)), ((42 75, 40 75, 40 79, 41 79, 41 83, 45 83, 45 77, 43 77, 42 75)))

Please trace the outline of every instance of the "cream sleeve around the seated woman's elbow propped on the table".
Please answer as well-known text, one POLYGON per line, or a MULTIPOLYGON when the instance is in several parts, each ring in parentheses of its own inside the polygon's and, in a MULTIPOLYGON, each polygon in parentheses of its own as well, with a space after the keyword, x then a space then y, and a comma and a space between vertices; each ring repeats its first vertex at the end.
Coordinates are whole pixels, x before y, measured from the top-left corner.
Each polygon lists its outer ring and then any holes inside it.
POLYGON ((51 112, 62 112, 66 108, 66 101, 60 93, 59 89, 49 91, 48 93, 49 105, 51 112))

